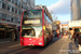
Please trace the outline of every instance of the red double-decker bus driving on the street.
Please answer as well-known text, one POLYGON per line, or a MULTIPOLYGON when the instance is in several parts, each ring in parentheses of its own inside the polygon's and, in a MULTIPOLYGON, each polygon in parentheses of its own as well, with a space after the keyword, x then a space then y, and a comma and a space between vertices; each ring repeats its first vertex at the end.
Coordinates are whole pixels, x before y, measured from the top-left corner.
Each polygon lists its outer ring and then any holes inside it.
POLYGON ((52 40, 52 21, 43 9, 23 12, 19 36, 21 45, 44 46, 52 40))

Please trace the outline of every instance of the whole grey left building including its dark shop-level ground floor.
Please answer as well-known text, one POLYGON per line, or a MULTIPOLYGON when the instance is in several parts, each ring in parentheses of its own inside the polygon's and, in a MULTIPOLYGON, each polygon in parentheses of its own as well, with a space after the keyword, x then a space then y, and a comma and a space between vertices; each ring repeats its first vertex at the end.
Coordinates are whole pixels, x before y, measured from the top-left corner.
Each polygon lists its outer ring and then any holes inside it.
POLYGON ((35 0, 0 0, 0 39, 9 38, 9 28, 21 26, 23 11, 33 8, 35 0))

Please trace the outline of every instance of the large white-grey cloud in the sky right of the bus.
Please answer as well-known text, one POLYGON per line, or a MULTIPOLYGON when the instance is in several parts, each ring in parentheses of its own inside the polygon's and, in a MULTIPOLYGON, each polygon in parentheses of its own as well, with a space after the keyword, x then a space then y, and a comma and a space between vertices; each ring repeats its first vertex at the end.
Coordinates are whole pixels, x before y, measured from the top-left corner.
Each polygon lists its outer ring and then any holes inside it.
POLYGON ((70 0, 59 0, 58 2, 48 6, 51 13, 70 14, 70 0))

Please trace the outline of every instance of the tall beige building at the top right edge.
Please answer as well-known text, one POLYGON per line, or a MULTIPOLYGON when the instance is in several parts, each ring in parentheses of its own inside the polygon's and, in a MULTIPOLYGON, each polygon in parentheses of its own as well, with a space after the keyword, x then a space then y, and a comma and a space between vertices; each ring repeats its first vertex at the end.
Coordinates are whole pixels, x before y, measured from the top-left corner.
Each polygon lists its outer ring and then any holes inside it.
POLYGON ((81 19, 81 0, 71 0, 70 10, 72 21, 81 19))

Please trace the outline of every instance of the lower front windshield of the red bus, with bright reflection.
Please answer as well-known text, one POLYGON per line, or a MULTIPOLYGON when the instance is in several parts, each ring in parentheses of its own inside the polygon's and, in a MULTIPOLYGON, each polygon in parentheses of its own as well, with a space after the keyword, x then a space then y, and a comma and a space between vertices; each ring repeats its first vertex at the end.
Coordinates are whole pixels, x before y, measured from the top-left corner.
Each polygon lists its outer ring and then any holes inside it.
POLYGON ((42 26, 28 26, 22 28, 23 37, 41 37, 42 36, 42 26))

